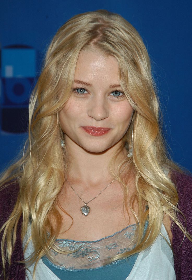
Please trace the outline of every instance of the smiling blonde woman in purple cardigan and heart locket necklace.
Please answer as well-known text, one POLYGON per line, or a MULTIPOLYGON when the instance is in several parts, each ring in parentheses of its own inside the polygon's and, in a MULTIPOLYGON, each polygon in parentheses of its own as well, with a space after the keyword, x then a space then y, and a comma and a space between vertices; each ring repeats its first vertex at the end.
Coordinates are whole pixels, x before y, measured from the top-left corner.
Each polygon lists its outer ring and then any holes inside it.
POLYGON ((1 279, 190 279, 190 184, 167 158, 138 32, 104 10, 73 17, 2 179, 1 279))

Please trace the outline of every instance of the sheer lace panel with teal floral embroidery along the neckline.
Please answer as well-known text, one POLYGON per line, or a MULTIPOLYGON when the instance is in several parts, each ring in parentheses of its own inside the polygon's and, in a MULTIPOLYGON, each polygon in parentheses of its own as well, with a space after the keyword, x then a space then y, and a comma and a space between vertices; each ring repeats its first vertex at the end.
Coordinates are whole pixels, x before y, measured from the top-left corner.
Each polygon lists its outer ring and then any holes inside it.
MULTIPOLYGON (((130 225, 120 232, 97 241, 74 241, 57 239, 55 244, 64 251, 79 249, 74 253, 63 255, 53 249, 50 250, 52 265, 63 270, 95 269, 106 264, 106 260, 124 253, 134 247, 133 237, 136 225, 130 225)), ((111 263, 113 265, 119 260, 111 263)))

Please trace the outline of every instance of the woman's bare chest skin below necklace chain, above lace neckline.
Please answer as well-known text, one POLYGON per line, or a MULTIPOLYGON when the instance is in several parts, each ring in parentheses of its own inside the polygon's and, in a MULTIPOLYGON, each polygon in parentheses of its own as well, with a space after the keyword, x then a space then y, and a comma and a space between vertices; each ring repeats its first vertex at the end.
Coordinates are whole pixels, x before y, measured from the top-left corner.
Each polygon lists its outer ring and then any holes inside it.
POLYGON ((88 203, 90 212, 87 216, 81 213, 82 206, 84 203, 74 193, 63 196, 62 208, 65 212, 60 211, 63 224, 58 238, 94 241, 135 223, 129 204, 128 212, 126 210, 124 193, 120 188, 88 203))

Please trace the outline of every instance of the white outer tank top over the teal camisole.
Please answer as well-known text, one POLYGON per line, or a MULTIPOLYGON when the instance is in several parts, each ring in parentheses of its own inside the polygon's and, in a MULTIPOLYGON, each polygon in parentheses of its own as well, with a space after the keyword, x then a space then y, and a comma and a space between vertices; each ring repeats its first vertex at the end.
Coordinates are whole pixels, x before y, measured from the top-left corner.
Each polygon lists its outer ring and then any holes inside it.
MULTIPOLYGON (((25 240, 30 236, 29 226, 25 240)), ((169 237, 164 225, 161 227, 162 235, 168 240, 169 237)), ((25 258, 34 251, 32 241, 25 251, 25 258)), ((27 267, 26 280, 33 280, 34 264, 27 267)), ((35 270, 35 280, 60 280, 40 259, 35 270)), ((118 280, 118 279, 117 279, 118 280)), ((159 235, 150 248, 139 253, 137 260, 125 280, 176 280, 173 253, 165 239, 159 235)))

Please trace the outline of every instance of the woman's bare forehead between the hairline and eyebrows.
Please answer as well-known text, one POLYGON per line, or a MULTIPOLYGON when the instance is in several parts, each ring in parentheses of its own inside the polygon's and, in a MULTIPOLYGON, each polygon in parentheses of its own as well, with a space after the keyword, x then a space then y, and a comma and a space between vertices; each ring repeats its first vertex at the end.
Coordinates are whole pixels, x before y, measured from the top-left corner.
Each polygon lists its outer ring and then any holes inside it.
POLYGON ((100 79, 118 82, 119 66, 117 59, 95 49, 82 50, 75 67, 75 80, 100 79))

